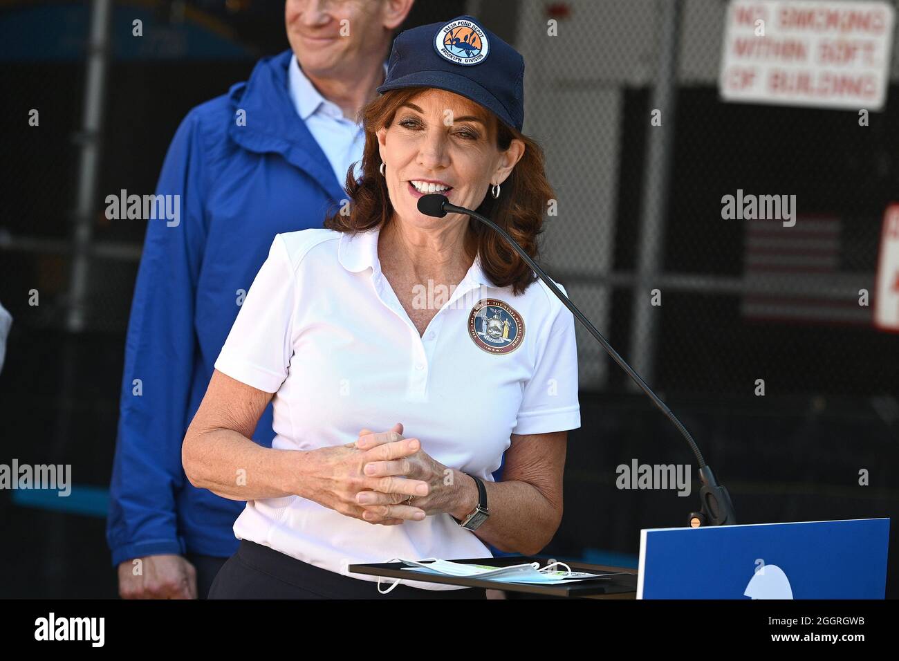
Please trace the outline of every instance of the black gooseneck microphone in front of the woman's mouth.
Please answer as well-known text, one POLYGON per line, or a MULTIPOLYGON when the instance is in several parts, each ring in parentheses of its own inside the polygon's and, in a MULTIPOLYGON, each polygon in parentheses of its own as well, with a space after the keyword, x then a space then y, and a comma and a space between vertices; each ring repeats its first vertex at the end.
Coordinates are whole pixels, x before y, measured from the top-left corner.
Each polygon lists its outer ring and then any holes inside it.
POLYGON ((556 283, 549 279, 549 276, 547 276, 547 274, 543 272, 543 269, 530 258, 530 255, 525 252, 524 248, 519 246, 515 242, 515 239, 509 236, 508 232, 494 223, 493 220, 477 213, 477 211, 450 204, 446 196, 439 193, 432 193, 420 197, 418 199, 418 210, 425 216, 432 216, 433 218, 443 218, 448 213, 461 213, 470 216, 473 219, 480 220, 488 227, 493 228, 495 232, 498 232, 500 236, 512 246, 512 249, 521 255, 521 259, 527 262, 530 268, 537 273, 539 279, 544 281, 549 290, 556 294, 556 298, 565 303, 565 307, 571 310, 574 317, 577 317, 577 320, 590 331, 590 334, 596 338, 596 341, 602 344, 602 348, 606 350, 606 353, 609 353, 612 360, 617 362, 619 367, 628 373, 628 376, 634 380, 636 385, 645 392, 647 397, 653 400, 653 404, 662 411, 669 420, 671 420, 672 424, 674 424, 683 437, 687 439, 687 442, 690 444, 690 450, 693 451, 696 460, 699 462, 699 481, 702 482, 702 487, 699 488, 701 509, 699 512, 690 512, 690 516, 688 517, 690 526, 698 528, 701 525, 728 525, 736 523, 734 504, 731 502, 730 494, 727 493, 727 489, 724 485, 719 485, 717 483, 711 467, 706 463, 705 458, 702 456, 702 452, 699 451, 699 446, 693 440, 693 437, 690 435, 690 432, 687 431, 687 428, 681 424, 681 421, 677 419, 672 413, 672 410, 665 405, 662 399, 660 399, 659 396, 646 385, 646 382, 640 378, 640 375, 634 371, 634 368, 628 365, 619 353, 612 348, 609 341, 590 323, 590 319, 584 317, 581 310, 574 307, 574 303, 572 303, 568 297, 556 287, 556 283))

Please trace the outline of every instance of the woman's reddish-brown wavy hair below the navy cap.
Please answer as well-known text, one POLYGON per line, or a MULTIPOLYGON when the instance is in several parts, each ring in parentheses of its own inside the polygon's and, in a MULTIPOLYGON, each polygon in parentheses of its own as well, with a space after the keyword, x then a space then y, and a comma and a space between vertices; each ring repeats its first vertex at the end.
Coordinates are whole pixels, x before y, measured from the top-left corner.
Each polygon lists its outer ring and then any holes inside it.
MULTIPOLYGON (((394 209, 387 194, 387 181, 379 172, 381 156, 376 131, 381 127, 389 127, 396 111, 426 89, 428 88, 406 87, 391 90, 362 109, 360 117, 365 130, 362 174, 357 181, 353 166, 350 167, 345 186, 350 197, 349 213, 334 210, 325 219, 325 228, 356 234, 382 224, 386 226, 391 221, 394 209)), ((518 164, 503 182, 499 199, 494 200, 493 195, 488 193, 476 211, 505 229, 530 258, 537 261, 538 237, 543 233, 543 214, 547 209, 547 202, 554 197, 547 181, 543 150, 521 131, 499 121, 493 112, 485 110, 485 113, 490 116, 494 125, 492 134, 496 138, 496 147, 505 151, 512 144, 512 139, 518 138, 524 143, 525 149, 518 164)), ((518 295, 537 280, 537 276, 521 256, 506 244, 503 237, 484 223, 472 219, 466 241, 470 250, 481 255, 485 275, 496 287, 512 285, 512 291, 518 295)))

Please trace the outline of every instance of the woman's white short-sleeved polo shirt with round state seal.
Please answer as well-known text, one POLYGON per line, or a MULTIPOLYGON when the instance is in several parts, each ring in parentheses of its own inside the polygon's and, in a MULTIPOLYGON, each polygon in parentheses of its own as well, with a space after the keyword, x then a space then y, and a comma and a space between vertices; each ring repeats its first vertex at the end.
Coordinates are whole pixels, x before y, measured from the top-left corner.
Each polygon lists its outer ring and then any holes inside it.
MULTIPOLYGON (((305 229, 271 244, 215 366, 275 393, 272 447, 343 445, 398 422, 435 460, 491 481, 510 434, 581 425, 574 316, 542 281, 513 296, 476 259, 421 336, 381 273, 378 234, 305 229)), ((433 291, 419 302, 440 307, 433 291)), ((373 525, 299 496, 249 501, 234 531, 362 580, 377 578, 346 567, 490 556, 449 514, 373 525)))

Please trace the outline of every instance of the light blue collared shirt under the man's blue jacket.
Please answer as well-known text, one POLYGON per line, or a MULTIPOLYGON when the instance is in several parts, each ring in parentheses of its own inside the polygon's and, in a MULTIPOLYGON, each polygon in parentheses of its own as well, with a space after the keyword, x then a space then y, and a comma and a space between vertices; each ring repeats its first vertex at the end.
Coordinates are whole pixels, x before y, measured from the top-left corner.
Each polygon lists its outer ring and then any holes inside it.
MULTIPOLYGON (((387 64, 384 65, 384 71, 386 76, 387 64)), ((306 122, 312 137, 322 147, 343 188, 350 165, 362 160, 365 131, 355 121, 344 117, 339 105, 328 101, 318 92, 300 69, 296 56, 290 60, 288 80, 290 100, 293 101, 297 114, 306 122)), ((356 178, 361 175, 360 165, 356 165, 356 178)))

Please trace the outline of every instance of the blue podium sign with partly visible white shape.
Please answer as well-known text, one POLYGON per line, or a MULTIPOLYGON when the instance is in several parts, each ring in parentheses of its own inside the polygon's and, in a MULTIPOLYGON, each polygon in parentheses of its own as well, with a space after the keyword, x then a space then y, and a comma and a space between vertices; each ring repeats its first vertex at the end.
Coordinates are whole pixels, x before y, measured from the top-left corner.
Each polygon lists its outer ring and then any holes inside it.
POLYGON ((883 599, 889 519, 640 531, 637 599, 883 599))

